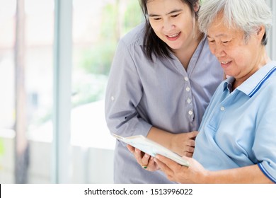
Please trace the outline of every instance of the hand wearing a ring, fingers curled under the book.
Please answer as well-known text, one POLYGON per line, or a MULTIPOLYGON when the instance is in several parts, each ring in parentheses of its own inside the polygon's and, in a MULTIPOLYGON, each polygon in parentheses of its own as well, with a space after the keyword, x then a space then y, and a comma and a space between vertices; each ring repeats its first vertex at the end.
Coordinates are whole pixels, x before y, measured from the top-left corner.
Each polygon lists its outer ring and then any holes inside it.
POLYGON ((142 168, 149 171, 159 170, 158 165, 154 161, 154 157, 149 156, 149 154, 146 154, 133 146, 127 145, 127 148, 134 155, 137 163, 139 163, 142 168))

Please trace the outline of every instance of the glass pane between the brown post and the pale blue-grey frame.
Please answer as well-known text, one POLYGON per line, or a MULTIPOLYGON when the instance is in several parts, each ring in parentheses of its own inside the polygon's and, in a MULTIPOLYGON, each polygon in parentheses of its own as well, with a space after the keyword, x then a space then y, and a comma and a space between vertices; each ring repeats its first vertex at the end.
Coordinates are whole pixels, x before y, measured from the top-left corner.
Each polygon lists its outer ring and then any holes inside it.
POLYGON ((51 182, 54 0, 25 0, 28 182, 51 182))

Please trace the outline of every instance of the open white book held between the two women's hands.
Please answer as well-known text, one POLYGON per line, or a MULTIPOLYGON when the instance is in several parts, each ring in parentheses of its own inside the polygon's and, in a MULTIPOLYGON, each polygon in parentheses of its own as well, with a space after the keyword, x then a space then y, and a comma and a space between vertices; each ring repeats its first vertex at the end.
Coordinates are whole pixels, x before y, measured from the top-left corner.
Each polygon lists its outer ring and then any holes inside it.
POLYGON ((181 156, 179 156, 177 153, 174 153, 173 151, 162 146, 161 144, 156 143, 155 141, 147 139, 145 136, 139 135, 122 137, 116 134, 113 134, 113 136, 116 139, 125 142, 126 144, 130 144, 131 146, 138 148, 140 151, 143 151, 144 153, 148 153, 150 156, 154 157, 156 156, 156 154, 160 154, 162 156, 170 158, 173 161, 176 161, 180 165, 189 166, 188 161, 186 161, 184 158, 181 158, 181 156))

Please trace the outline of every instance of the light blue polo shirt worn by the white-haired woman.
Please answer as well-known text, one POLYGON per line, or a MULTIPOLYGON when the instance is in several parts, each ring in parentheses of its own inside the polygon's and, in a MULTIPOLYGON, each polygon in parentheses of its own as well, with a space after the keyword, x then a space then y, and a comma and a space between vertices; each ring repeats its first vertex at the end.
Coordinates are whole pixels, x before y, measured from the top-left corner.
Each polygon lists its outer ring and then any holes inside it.
POLYGON ((276 62, 231 92, 233 82, 227 78, 214 93, 193 157, 207 170, 258 164, 276 182, 276 62))

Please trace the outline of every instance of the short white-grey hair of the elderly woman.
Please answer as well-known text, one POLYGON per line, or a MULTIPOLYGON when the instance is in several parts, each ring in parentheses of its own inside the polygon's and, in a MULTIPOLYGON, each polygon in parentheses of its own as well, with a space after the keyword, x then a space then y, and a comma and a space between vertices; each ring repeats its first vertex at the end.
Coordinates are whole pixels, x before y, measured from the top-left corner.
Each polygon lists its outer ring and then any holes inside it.
POLYGON ((205 0, 199 12, 200 30, 207 30, 219 13, 223 13, 224 24, 229 28, 243 30, 245 40, 265 27, 262 45, 268 42, 267 33, 272 24, 272 13, 264 0, 205 0))

